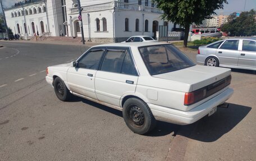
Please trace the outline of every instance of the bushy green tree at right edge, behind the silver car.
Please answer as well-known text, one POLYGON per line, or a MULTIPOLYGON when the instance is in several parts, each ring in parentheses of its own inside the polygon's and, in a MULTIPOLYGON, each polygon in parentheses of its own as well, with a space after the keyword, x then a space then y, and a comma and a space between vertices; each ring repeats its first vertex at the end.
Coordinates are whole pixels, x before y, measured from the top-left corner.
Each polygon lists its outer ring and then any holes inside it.
POLYGON ((228 23, 221 27, 221 31, 230 36, 252 36, 256 35, 256 11, 241 12, 239 17, 231 13, 228 23))

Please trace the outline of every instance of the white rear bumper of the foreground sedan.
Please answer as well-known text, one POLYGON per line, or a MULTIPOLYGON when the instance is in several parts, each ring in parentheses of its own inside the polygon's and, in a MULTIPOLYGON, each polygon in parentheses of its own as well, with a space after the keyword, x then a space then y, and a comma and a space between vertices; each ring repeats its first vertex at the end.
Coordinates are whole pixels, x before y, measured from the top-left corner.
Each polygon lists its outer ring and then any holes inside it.
POLYGON ((212 99, 207 100, 207 102, 198 105, 198 107, 195 107, 190 111, 179 111, 177 109, 161 107, 155 104, 148 105, 157 120, 176 123, 178 125, 188 125, 206 116, 214 107, 217 107, 229 99, 233 93, 234 90, 228 88, 221 94, 214 96, 212 99))

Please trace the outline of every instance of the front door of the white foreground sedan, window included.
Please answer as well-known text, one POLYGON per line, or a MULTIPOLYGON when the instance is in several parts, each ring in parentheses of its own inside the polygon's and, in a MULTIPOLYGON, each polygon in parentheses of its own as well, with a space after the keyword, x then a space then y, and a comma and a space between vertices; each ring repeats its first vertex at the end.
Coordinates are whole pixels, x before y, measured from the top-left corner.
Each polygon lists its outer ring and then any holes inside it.
POLYGON ((67 81, 71 91, 97 99, 94 81, 104 52, 105 49, 89 50, 83 57, 79 58, 76 67, 68 69, 67 81))

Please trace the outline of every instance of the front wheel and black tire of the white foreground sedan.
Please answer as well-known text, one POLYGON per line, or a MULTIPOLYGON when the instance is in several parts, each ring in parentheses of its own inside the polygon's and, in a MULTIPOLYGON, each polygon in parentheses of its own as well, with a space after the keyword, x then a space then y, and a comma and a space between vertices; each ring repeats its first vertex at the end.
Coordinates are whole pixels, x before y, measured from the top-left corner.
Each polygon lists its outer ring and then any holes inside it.
POLYGON ((67 89, 65 83, 60 77, 56 77, 53 82, 54 91, 58 99, 62 101, 67 101, 71 98, 72 94, 67 89))

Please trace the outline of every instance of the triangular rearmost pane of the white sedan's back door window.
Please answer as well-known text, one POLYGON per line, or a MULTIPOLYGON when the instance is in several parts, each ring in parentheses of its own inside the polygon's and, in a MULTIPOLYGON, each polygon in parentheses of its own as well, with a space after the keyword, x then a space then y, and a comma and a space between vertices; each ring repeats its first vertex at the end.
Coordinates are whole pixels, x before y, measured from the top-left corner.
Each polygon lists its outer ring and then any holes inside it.
POLYGON ((136 71, 135 71, 134 65, 132 64, 131 56, 130 56, 129 52, 126 52, 126 54, 125 54, 125 59, 124 59, 123 65, 122 65, 121 73, 126 74, 126 75, 136 76, 136 71))

